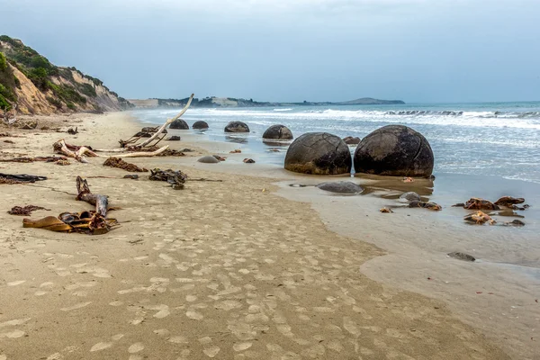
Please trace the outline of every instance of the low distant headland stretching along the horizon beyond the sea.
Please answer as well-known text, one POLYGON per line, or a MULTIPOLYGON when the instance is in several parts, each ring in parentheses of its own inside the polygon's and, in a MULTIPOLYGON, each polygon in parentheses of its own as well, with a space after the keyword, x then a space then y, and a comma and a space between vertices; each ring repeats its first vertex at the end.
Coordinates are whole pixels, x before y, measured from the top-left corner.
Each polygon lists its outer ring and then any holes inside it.
MULTIPOLYGON (((138 108, 157 108, 157 107, 182 107, 187 103, 188 98, 184 99, 130 99, 129 102, 138 108)), ((199 108, 222 108, 222 107, 264 107, 264 106, 317 106, 317 105, 391 105, 404 104, 401 100, 380 100, 371 97, 351 100, 347 102, 308 102, 302 103, 270 103, 257 102, 253 99, 237 99, 234 97, 208 96, 203 99, 193 99, 192 107, 199 108)))

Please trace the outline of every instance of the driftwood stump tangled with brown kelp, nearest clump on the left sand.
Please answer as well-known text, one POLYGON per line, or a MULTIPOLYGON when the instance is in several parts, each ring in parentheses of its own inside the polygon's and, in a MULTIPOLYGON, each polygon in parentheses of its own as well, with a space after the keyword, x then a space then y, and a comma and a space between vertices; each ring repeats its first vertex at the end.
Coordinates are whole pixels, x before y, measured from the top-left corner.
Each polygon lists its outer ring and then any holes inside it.
POLYGON ((26 218, 23 219, 23 227, 101 235, 119 225, 115 219, 106 219, 109 210, 107 196, 91 193, 88 183, 81 176, 76 176, 76 188, 76 200, 94 205, 94 211, 62 212, 58 217, 47 216, 38 220, 26 218))

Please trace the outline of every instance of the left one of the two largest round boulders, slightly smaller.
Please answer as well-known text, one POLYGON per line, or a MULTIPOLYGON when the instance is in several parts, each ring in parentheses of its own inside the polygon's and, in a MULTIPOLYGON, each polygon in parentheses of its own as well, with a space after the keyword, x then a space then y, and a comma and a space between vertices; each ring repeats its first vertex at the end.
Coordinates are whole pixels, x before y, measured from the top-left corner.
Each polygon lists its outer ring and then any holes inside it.
POLYGON ((351 172, 347 144, 328 132, 308 132, 295 139, 285 156, 285 169, 295 173, 338 175, 351 172))

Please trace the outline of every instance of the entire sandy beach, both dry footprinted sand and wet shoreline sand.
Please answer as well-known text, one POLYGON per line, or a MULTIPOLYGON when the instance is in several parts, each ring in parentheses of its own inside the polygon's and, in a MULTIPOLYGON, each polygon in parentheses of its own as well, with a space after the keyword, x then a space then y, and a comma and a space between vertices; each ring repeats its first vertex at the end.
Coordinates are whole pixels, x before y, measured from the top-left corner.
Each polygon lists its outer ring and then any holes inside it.
MULTIPOLYGON (((2 138, 2 157, 51 156, 62 138, 116 148, 141 127, 121 112, 39 121, 80 132, 5 130, 17 137, 2 138)), ((123 179, 127 172, 102 166, 106 157, 0 163, 2 173, 49 177, 0 184, 0 360, 537 358, 536 285, 513 283, 489 261, 447 258, 462 250, 445 244, 464 228, 430 222, 429 212, 384 217, 374 211, 383 198, 329 201, 289 186, 318 179, 246 167, 245 154, 229 155, 234 144, 182 138, 168 144, 195 150, 185 157, 129 161, 220 182, 188 180, 175 191, 146 173, 123 179), (196 162, 207 153, 230 158, 196 162), (27 204, 49 209, 31 218, 91 209, 75 200, 76 175, 121 208, 110 213, 120 228, 102 236, 23 229, 23 217, 6 213, 27 204), (418 252, 421 241, 400 241, 413 237, 445 242, 439 253, 418 252)), ((482 245, 482 234, 468 237, 482 245)))

